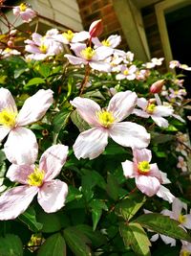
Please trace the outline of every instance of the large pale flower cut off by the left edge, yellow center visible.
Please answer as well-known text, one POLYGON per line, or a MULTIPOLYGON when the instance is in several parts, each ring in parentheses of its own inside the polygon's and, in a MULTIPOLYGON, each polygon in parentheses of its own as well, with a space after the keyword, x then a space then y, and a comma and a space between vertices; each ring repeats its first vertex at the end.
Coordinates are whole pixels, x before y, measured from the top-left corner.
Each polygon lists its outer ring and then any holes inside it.
POLYGON ((32 163, 38 150, 35 135, 24 128, 38 120, 53 104, 52 90, 39 90, 28 98, 18 112, 8 89, 0 88, 0 142, 9 134, 4 151, 11 163, 32 163))

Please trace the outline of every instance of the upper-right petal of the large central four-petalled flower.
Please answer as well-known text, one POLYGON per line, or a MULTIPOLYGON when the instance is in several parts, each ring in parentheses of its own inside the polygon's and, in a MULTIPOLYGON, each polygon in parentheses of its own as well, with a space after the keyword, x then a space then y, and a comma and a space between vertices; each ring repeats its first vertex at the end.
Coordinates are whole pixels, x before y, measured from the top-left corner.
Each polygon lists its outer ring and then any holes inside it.
POLYGON ((111 99, 107 110, 113 113, 117 122, 120 122, 133 112, 137 99, 138 96, 135 92, 117 92, 111 99))

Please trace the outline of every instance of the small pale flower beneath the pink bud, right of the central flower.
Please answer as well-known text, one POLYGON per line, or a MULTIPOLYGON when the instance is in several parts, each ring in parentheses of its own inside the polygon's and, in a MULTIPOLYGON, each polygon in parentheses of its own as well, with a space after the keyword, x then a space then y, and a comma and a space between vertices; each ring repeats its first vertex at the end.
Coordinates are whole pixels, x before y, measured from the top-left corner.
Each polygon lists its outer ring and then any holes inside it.
POLYGON ((171 105, 155 105, 155 103, 149 102, 144 98, 139 98, 138 106, 141 109, 134 109, 134 114, 143 118, 151 117, 160 128, 168 127, 168 121, 163 116, 173 115, 174 109, 171 105))

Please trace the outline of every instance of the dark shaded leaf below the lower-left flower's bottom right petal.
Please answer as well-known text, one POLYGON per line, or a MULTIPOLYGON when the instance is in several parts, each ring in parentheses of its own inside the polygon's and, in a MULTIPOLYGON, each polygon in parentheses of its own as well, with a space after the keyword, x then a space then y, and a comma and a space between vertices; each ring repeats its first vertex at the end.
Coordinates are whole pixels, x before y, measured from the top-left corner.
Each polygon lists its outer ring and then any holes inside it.
POLYGON ((61 222, 59 221, 59 217, 56 213, 47 214, 42 212, 37 215, 37 221, 40 221, 43 224, 42 232, 44 233, 53 233, 62 228, 61 222))

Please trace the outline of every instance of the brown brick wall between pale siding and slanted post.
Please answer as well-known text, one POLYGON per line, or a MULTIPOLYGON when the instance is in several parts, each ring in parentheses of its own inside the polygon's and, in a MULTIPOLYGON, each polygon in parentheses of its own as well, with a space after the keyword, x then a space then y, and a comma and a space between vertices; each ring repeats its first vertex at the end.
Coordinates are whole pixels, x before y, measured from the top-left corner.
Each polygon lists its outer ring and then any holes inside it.
POLYGON ((125 51, 129 50, 127 41, 117 20, 117 14, 114 10, 112 0, 77 0, 77 3, 85 30, 89 29, 93 21, 101 18, 104 31, 100 38, 105 39, 109 35, 121 35, 122 41, 117 48, 125 51))

